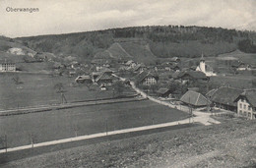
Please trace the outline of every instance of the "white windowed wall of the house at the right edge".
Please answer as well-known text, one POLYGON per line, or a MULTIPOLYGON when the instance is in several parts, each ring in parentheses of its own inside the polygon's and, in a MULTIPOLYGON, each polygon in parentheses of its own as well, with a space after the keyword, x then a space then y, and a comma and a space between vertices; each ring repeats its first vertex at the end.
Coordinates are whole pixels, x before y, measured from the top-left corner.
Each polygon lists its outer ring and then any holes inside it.
POLYGON ((256 111, 246 99, 240 98, 237 101, 237 114, 249 119, 255 119, 256 111))

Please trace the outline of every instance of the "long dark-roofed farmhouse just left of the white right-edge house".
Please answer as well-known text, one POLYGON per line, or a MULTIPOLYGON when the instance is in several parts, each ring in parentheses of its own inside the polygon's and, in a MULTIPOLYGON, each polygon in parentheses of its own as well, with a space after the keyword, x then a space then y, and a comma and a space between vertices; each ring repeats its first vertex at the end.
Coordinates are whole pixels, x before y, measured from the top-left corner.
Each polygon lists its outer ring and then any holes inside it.
POLYGON ((234 100, 243 92, 242 89, 222 86, 218 89, 210 90, 207 95, 215 107, 236 112, 237 103, 234 100))

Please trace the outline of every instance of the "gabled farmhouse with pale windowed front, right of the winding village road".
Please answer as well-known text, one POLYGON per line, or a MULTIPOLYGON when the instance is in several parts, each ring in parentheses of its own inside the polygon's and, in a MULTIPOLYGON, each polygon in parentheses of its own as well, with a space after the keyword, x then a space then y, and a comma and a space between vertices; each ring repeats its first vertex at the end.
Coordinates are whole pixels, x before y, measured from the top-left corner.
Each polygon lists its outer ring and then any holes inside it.
POLYGON ((135 80, 138 84, 143 85, 153 85, 158 84, 159 77, 153 75, 151 72, 141 72, 137 76, 135 76, 135 80))

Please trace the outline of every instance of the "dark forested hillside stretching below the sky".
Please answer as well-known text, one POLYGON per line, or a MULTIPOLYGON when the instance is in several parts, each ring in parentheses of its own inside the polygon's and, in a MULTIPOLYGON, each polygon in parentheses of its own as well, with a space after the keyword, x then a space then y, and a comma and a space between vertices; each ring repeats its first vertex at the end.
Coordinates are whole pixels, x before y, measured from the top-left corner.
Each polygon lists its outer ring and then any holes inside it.
POLYGON ((96 53, 104 52, 109 47, 111 49, 112 44, 118 46, 120 44, 128 55, 129 51, 132 51, 134 57, 144 54, 143 49, 134 49, 138 43, 159 58, 174 56, 193 58, 200 57, 202 53, 206 56, 217 56, 236 49, 256 52, 252 49, 253 42, 256 41, 256 32, 206 27, 111 28, 20 37, 14 40, 37 52, 51 52, 60 57, 72 55, 82 60, 93 59, 96 53))

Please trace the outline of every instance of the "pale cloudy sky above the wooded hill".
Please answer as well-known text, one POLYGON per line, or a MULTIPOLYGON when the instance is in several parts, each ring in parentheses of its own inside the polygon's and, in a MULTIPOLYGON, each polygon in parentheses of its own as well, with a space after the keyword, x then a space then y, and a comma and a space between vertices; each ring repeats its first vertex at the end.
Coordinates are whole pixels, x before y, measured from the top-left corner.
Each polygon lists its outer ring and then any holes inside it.
POLYGON ((168 25, 256 30, 256 0, 0 0, 8 37, 168 25))

